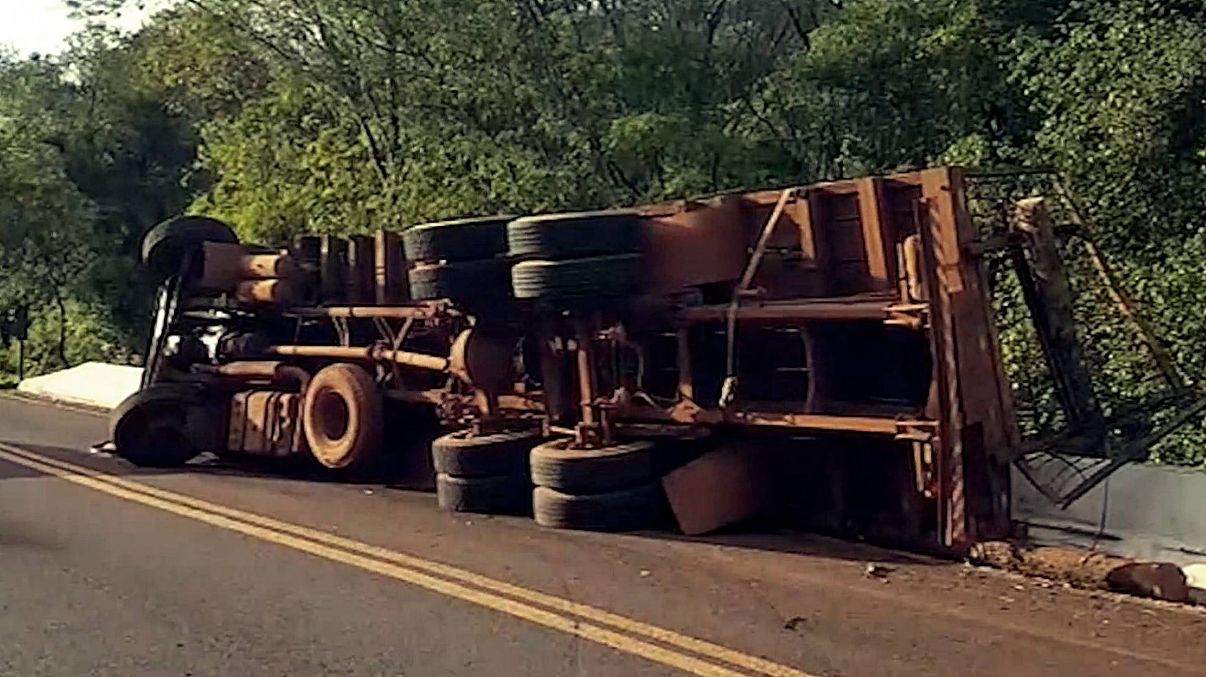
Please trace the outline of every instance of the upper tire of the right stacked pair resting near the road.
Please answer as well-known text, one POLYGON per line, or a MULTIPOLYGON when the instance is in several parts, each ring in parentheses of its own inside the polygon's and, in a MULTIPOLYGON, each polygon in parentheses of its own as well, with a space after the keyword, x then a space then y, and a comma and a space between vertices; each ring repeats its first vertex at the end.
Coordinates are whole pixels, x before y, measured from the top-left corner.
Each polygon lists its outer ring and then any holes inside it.
POLYGON ((657 479, 655 445, 639 441, 598 449, 573 449, 554 440, 532 449, 532 483, 570 494, 614 491, 657 479))

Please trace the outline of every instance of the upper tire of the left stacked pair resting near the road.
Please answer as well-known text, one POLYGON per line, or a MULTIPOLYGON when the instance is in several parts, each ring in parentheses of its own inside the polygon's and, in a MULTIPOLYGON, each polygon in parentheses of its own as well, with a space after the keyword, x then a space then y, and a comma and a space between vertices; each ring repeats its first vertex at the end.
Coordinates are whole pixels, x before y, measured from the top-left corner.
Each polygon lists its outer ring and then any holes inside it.
POLYGON ((539 430, 473 435, 458 430, 432 442, 435 472, 456 477, 490 477, 522 473, 528 452, 540 441, 539 430))

